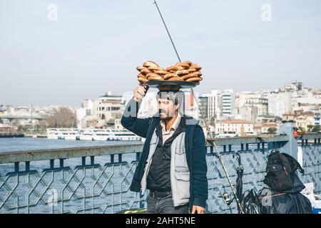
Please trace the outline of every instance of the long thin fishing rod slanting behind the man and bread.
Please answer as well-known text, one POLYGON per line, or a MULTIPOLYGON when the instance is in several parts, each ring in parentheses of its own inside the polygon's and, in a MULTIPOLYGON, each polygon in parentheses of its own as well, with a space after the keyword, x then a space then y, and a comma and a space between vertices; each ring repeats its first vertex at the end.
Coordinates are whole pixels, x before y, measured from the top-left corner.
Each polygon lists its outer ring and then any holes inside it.
MULTIPOLYGON (((168 28, 167 28, 167 26, 166 26, 166 24, 165 24, 165 21, 164 21, 164 19, 163 19, 162 14, 161 14, 161 10, 159 9, 156 0, 154 0, 153 4, 155 4, 156 7, 157 7, 158 13, 159 13, 159 15, 161 16, 161 19, 162 19, 162 21, 163 21, 163 24, 164 24, 164 26, 165 26, 165 29, 166 29, 166 31, 167 31, 167 33, 168 33, 168 37, 170 38, 170 42, 172 43, 173 48, 174 48, 174 50, 175 50, 176 56, 177 56, 177 58, 178 58, 178 61, 180 61, 180 56, 178 55, 178 51, 177 51, 177 49, 176 49, 176 47, 175 47, 175 44, 174 44, 174 42, 173 42, 172 37, 170 36, 170 32, 168 31, 168 28)), ((180 61, 180 62, 181 62, 181 61, 180 61)), ((240 212, 241 212, 241 214, 244 214, 243 208, 241 207, 240 201, 238 200, 238 197, 237 197, 237 195, 236 195, 236 192, 235 192, 235 189, 234 189, 234 187, 233 187, 232 181, 230 180, 230 176, 228 175, 228 170, 226 170, 226 167, 225 167, 225 165, 224 165, 223 158, 222 158, 222 156, 220 155, 220 151, 218 150, 218 147, 217 147, 217 145, 216 145, 216 143, 215 143, 215 141, 214 141, 214 139, 213 139, 213 135, 210 133, 210 128, 208 127, 208 123, 206 123, 206 121, 205 121, 205 118, 204 118, 204 115, 203 115, 203 113, 202 113, 202 110, 200 110, 200 104, 198 103, 198 99, 197 99, 196 96, 195 96, 195 93, 194 93, 193 88, 190 88, 190 91, 191 91, 191 93, 193 94, 193 97, 195 98, 196 103, 198 104, 198 110, 200 111, 200 115, 202 116, 202 119, 203 119, 203 121, 204 121, 204 123, 205 123, 206 130, 208 131, 208 133, 209 133, 209 135, 210 135, 210 145, 212 145, 212 146, 215 148, 215 151, 216 151, 216 153, 217 153, 217 155, 218 155, 218 160, 220 161, 220 165, 222 165, 222 167, 223 167, 223 171, 224 171, 224 173, 225 173, 226 178, 228 179, 228 183, 229 183, 230 188, 231 188, 231 190, 232 190, 233 196, 234 196, 235 199, 236 199, 236 202, 237 202, 237 204, 238 204, 238 207, 240 208, 240 212)))

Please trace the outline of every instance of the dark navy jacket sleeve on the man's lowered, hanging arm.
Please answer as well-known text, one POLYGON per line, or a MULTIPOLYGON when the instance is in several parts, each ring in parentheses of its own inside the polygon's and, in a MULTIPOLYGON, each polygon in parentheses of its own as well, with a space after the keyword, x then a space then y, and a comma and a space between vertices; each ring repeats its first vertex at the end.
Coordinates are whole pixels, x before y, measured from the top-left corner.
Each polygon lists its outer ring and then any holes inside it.
POLYGON ((208 199, 208 178, 206 177, 208 167, 206 164, 205 136, 200 125, 195 127, 193 133, 192 158, 193 205, 205 207, 206 199, 208 199))

